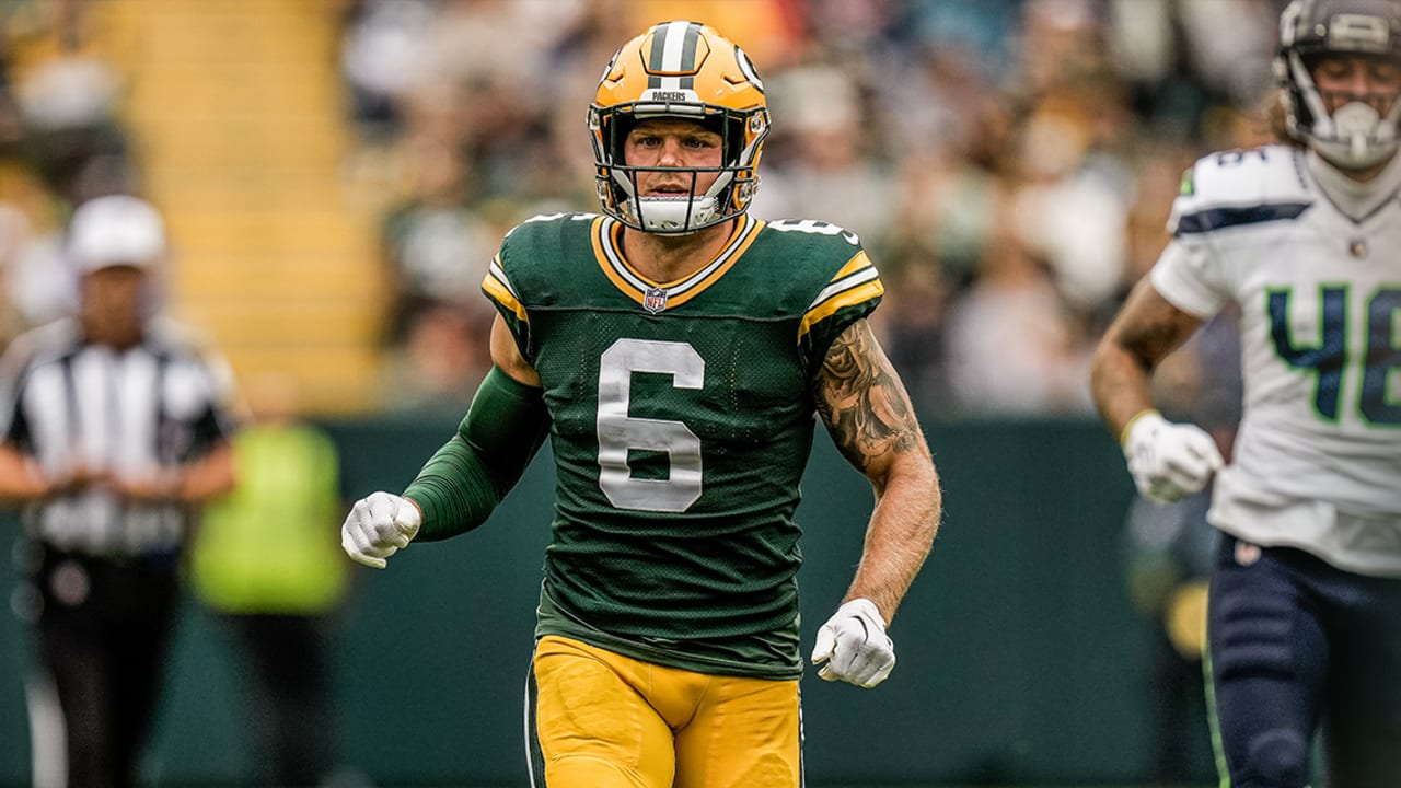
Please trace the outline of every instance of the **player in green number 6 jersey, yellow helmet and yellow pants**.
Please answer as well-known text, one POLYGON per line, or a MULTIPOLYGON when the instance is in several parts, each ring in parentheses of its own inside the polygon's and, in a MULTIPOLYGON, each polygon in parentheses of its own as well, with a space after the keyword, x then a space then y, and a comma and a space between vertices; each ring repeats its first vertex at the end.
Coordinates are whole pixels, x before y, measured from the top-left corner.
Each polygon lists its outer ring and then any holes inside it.
POLYGON ((710 27, 625 43, 588 130, 602 215, 507 234, 483 283, 495 367, 402 495, 354 505, 343 544, 384 566, 481 524, 548 436, 532 782, 796 788, 793 515, 814 415, 876 494, 811 653, 824 679, 887 677, 887 624, 940 519, 929 447, 866 321, 881 280, 855 233, 747 213, 769 109, 710 27))

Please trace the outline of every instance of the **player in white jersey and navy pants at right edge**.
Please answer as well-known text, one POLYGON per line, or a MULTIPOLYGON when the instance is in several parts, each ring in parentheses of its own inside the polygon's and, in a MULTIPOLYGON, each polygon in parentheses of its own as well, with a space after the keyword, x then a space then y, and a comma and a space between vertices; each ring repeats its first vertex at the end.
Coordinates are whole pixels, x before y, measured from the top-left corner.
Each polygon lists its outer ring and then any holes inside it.
POLYGON ((1290 142, 1199 160, 1171 241, 1091 387, 1139 491, 1216 475, 1208 606, 1223 785, 1401 785, 1401 1, 1293 0, 1275 73, 1290 142), (1230 463, 1153 409, 1157 363, 1240 308, 1230 463), (1316 733, 1324 763, 1311 764, 1316 733))

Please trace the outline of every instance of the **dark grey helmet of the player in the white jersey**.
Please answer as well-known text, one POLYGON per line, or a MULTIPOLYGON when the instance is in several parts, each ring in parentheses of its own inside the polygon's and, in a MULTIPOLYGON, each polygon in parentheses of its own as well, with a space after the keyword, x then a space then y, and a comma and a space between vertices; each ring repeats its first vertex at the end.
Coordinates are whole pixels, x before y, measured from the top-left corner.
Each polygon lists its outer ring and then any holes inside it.
POLYGON ((1401 63, 1401 0, 1290 0, 1279 17, 1275 79, 1285 91, 1289 132, 1345 170, 1386 161, 1397 150, 1401 100, 1386 116, 1365 101, 1332 115, 1310 67, 1327 55, 1367 55, 1401 63))

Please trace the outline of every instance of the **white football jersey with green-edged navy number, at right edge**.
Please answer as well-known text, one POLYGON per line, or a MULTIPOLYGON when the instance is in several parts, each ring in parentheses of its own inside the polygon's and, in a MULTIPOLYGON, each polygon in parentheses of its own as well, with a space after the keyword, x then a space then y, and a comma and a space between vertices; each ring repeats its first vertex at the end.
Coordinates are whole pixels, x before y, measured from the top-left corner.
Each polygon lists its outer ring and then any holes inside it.
POLYGON ((1401 165, 1377 181, 1390 199, 1353 220, 1306 156, 1199 160, 1150 278, 1202 318, 1240 306, 1244 415, 1212 523, 1401 576, 1401 165))

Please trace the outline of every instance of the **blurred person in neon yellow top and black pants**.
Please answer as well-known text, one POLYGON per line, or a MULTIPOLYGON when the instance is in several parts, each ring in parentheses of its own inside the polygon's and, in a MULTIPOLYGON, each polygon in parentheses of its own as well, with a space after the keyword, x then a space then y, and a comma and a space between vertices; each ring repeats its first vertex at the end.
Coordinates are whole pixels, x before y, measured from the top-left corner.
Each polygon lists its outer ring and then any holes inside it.
POLYGON ((291 379, 263 374, 245 390, 238 485, 206 508, 191 580, 238 645, 258 784, 321 785, 335 764, 331 628, 349 582, 340 458, 303 419, 291 379))

